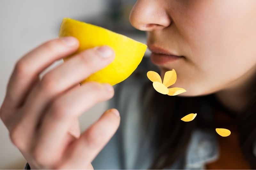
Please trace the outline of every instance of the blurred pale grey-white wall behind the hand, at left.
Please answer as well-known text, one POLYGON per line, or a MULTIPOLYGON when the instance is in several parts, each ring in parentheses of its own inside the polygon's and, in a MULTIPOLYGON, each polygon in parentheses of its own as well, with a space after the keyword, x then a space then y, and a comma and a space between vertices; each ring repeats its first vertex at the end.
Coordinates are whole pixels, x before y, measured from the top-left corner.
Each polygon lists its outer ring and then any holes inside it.
MULTIPOLYGON (((106 10, 107 0, 0 0, 0 103, 15 62, 44 41, 57 38, 62 18, 86 19, 106 10)), ((105 110, 100 103, 80 117, 82 130, 105 110)), ((26 160, 0 121, 0 169, 22 169, 26 160)))

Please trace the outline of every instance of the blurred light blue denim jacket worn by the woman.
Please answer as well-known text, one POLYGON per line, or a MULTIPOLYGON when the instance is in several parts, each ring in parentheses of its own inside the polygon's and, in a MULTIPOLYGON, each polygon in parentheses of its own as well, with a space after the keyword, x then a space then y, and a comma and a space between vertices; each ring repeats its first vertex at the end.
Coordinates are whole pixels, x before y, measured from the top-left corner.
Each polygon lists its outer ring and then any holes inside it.
MULTIPOLYGON (((110 101, 110 107, 119 110, 120 127, 92 162, 94 169, 148 169, 151 165, 154 148, 142 132, 140 92, 143 83, 148 81, 147 71, 155 69, 148 58, 143 58, 134 73, 115 87, 115 96, 110 101)), ((203 105, 200 113, 206 119, 213 119, 212 110, 207 104, 203 105)), ((256 143, 253 151, 256 156, 256 143)), ((218 158, 216 133, 195 129, 185 155, 167 169, 204 169, 207 163, 218 158)))

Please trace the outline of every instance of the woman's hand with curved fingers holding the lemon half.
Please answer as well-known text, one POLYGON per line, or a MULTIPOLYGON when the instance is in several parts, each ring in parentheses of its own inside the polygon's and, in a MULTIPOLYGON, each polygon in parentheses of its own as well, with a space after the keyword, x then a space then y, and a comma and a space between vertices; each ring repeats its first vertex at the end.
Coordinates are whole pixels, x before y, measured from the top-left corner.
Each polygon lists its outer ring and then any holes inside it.
POLYGON ((16 64, 0 109, 10 138, 33 169, 92 169, 91 162, 119 126, 116 109, 107 110, 80 136, 78 116, 113 97, 108 84, 79 82, 115 58, 107 46, 85 50, 49 71, 54 61, 79 47, 74 37, 48 41, 16 64))

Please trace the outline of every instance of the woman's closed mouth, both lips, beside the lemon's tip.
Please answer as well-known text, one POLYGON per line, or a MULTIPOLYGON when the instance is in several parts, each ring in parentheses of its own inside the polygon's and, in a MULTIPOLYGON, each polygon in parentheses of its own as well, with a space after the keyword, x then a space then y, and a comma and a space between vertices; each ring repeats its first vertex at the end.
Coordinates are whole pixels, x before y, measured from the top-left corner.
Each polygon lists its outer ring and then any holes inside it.
POLYGON ((150 55, 151 61, 156 65, 164 65, 184 58, 184 56, 174 55, 169 51, 156 46, 148 46, 148 48, 152 52, 150 55))

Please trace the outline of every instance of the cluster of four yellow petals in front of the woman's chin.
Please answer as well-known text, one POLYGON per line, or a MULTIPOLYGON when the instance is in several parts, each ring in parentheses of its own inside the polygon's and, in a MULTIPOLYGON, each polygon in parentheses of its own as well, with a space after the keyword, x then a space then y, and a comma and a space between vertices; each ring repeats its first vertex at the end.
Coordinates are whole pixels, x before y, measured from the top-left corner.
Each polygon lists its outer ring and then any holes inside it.
POLYGON ((161 77, 155 71, 148 71, 147 76, 148 79, 153 82, 154 89, 159 93, 175 96, 187 92, 185 89, 179 87, 167 88, 170 85, 173 85, 177 80, 177 74, 174 69, 165 72, 163 83, 161 77))

